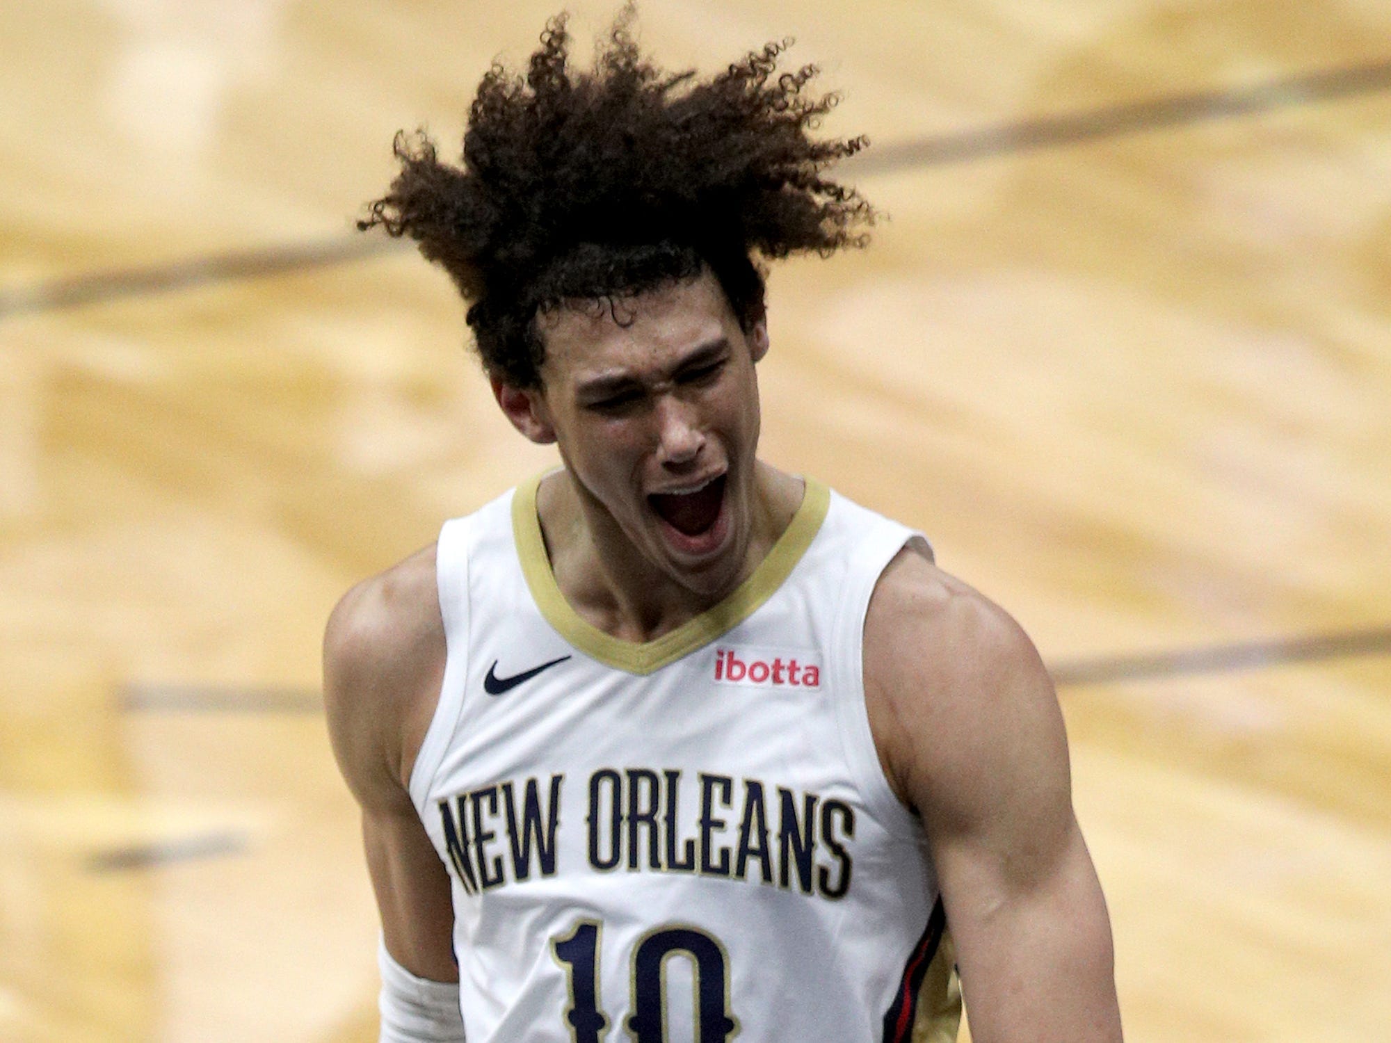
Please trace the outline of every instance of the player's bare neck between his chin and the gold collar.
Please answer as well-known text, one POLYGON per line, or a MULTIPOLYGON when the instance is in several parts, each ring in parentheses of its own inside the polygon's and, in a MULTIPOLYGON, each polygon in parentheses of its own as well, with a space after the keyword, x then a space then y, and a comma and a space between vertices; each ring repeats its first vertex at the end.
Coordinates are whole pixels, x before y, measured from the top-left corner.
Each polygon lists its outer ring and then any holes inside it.
POLYGON ((757 464, 748 522, 729 548, 732 560, 709 588, 696 590, 650 563, 569 471, 541 483, 537 513, 556 585, 591 626, 645 642, 727 598, 768 556, 801 503, 803 483, 757 464))

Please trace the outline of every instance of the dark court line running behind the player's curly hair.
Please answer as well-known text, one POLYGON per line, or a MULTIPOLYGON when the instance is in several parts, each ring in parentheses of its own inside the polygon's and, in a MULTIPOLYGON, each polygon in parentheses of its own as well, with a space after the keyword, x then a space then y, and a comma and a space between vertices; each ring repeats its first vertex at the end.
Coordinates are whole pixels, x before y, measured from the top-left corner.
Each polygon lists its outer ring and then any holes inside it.
MULTIPOLYGON (((857 177, 872 177, 914 167, 939 167, 1034 149, 1081 145, 1127 134, 1296 108, 1387 89, 1391 89, 1391 60, 889 143, 857 156, 849 161, 853 165, 847 168, 857 177)), ((325 264, 342 264, 405 250, 410 246, 409 242, 387 239, 380 235, 332 238, 74 275, 28 288, 0 288, 0 318, 21 313, 56 312, 142 293, 191 289, 230 280, 302 271, 325 264)))

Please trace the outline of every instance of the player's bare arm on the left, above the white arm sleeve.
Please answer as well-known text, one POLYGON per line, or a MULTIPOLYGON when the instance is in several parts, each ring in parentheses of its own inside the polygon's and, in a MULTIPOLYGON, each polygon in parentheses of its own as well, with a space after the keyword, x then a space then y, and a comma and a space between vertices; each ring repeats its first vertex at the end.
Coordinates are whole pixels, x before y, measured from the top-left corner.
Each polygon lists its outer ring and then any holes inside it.
POLYGON ((419 978, 456 982, 449 878, 408 791, 444 659, 433 547, 351 590, 324 634, 328 734, 362 807, 387 951, 419 978))

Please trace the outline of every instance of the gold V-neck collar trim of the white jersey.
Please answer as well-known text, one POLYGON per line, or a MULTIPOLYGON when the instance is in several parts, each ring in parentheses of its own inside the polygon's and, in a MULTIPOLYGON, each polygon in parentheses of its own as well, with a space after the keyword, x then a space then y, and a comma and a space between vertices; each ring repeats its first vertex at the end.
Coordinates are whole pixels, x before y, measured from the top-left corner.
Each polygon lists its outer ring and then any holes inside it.
POLYGON ((778 537, 768 556, 729 597, 652 641, 625 641, 583 620, 561 594, 536 510, 537 490, 544 477, 538 474, 519 485, 512 498, 512 534, 531 597, 545 620, 577 649, 606 666, 638 676, 676 662, 754 615, 791 574, 830 509, 830 490, 805 478, 801 505, 791 523, 778 537))

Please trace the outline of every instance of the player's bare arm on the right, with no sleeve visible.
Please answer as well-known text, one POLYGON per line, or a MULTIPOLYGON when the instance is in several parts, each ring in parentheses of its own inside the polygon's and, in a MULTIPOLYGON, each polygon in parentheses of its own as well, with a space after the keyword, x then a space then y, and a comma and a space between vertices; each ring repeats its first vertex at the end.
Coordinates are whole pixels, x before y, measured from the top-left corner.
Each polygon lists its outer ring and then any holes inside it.
POLYGON ((890 784, 928 833, 972 1037, 1120 1040, 1063 716, 1022 630, 904 551, 869 605, 865 694, 890 784))

